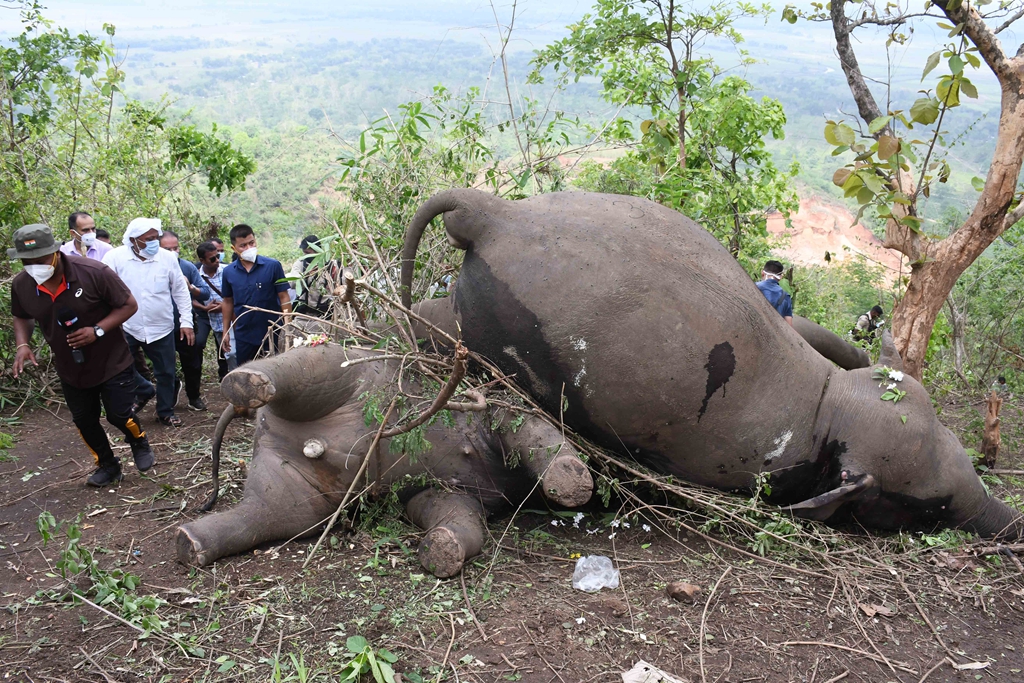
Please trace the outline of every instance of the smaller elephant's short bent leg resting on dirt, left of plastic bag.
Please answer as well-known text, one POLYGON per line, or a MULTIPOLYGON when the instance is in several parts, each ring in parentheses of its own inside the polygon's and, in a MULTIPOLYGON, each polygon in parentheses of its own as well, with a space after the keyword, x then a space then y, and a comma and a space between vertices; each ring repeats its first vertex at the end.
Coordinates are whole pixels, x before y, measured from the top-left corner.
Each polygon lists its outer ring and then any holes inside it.
POLYGON ((459 573, 466 559, 483 548, 483 506, 471 496, 427 488, 409 501, 406 513, 427 529, 420 542, 420 564, 438 579, 459 573))

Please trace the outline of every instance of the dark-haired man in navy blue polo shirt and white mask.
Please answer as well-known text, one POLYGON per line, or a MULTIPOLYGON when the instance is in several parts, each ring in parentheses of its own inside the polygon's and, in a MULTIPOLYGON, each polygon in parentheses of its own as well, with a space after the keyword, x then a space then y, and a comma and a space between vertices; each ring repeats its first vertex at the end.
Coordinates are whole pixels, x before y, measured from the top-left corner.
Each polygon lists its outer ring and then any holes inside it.
MULTIPOLYGON (((268 348, 267 330, 281 319, 282 313, 292 312, 288 283, 281 261, 257 256, 256 236, 246 224, 236 225, 228 233, 231 250, 239 260, 224 268, 221 275, 223 299, 221 312, 224 330, 234 328, 238 365, 249 362, 261 350, 268 348), (263 308, 274 312, 253 310, 263 308)), ((230 338, 224 335, 221 350, 230 350, 230 338)))

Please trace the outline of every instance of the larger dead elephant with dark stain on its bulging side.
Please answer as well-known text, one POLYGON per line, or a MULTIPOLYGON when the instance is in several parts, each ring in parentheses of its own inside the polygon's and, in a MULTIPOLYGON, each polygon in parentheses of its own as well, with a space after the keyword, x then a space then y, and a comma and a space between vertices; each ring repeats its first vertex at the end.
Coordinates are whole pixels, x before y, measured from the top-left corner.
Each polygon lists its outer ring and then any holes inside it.
POLYGON ((878 366, 837 369, 678 212, 611 195, 442 193, 406 236, 407 305, 440 215, 466 256, 451 297, 422 311, 549 412, 564 396, 565 423, 597 443, 726 490, 770 473, 769 500, 813 519, 1021 537, 1021 515, 987 494, 924 387, 898 372, 891 339, 878 366))

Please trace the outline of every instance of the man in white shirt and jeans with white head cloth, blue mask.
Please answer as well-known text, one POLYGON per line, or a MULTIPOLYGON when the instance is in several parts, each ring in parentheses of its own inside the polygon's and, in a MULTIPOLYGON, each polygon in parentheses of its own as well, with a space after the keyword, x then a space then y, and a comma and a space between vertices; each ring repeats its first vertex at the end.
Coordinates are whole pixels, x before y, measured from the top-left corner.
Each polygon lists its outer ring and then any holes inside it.
MULTIPOLYGON (((141 347, 153 362, 157 378, 157 419, 169 427, 180 427, 181 419, 174 415, 177 398, 174 392, 174 302, 180 314, 181 339, 195 342, 193 333, 191 297, 188 283, 181 274, 175 254, 160 248, 163 234, 159 218, 136 218, 128 223, 124 245, 103 257, 124 281, 138 302, 138 312, 122 326, 132 351, 141 347)), ((141 378, 136 378, 136 380, 141 378)), ((152 395, 152 385, 142 380, 136 395, 152 395)), ((144 399, 147 396, 143 397, 144 399)))

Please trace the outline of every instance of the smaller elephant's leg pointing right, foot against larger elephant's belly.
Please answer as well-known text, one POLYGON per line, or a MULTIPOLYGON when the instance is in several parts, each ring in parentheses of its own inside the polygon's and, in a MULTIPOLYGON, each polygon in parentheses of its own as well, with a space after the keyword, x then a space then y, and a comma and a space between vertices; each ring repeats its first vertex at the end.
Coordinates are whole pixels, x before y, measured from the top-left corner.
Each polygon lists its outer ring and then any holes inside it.
POLYGON ((506 417, 501 429, 505 447, 517 453, 526 471, 540 480, 545 498, 567 508, 590 500, 594 478, 560 429, 535 417, 518 427, 513 427, 506 417))

